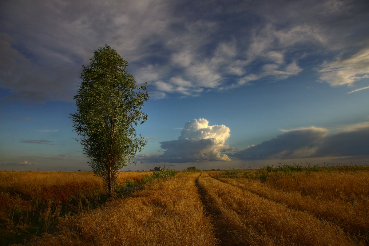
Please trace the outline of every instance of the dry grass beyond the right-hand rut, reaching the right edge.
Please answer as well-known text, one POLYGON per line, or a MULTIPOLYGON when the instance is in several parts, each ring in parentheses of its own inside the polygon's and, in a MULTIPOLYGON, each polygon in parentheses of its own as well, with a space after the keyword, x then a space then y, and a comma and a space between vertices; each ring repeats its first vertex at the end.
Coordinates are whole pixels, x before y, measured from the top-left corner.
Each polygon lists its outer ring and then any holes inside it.
POLYGON ((335 222, 354 240, 368 242, 368 171, 277 173, 263 183, 247 178, 218 179, 335 222))

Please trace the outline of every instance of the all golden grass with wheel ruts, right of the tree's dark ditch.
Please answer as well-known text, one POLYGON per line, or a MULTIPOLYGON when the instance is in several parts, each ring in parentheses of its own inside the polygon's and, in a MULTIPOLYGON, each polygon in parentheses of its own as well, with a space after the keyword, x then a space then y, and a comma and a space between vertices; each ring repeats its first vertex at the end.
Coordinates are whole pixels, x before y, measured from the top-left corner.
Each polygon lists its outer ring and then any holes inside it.
POLYGON ((352 185, 365 185, 365 175, 297 173, 261 183, 208 173, 152 180, 130 197, 59 218, 58 231, 28 245, 365 245, 342 229, 367 230, 366 189, 352 185), (337 179, 349 188, 332 188, 337 179))

